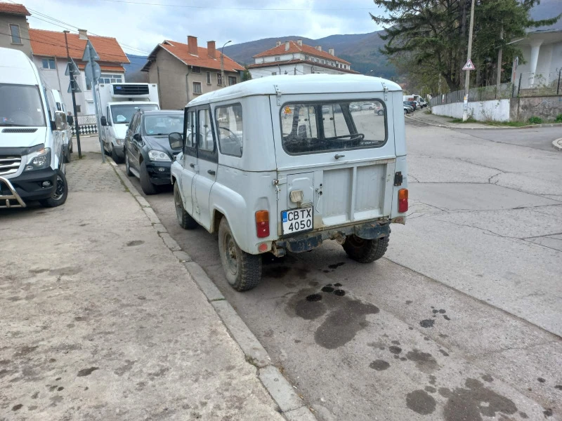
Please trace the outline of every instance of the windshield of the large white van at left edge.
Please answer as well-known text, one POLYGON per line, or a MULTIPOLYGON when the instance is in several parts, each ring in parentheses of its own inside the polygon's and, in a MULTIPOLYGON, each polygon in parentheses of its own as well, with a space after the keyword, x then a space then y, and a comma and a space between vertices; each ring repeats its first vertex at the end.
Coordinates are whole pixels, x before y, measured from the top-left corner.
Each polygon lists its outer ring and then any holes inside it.
POLYGON ((45 126, 37 86, 0 83, 0 126, 45 126))

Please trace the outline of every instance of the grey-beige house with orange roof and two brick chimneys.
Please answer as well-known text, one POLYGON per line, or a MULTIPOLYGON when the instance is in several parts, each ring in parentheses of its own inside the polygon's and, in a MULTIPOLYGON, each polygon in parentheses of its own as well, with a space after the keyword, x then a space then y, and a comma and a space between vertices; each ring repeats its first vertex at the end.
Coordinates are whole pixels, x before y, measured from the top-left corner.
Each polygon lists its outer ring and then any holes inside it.
POLYGON ((221 77, 221 52, 215 41, 207 48, 197 46, 197 37, 188 36, 188 44, 165 40, 148 56, 143 72, 150 83, 158 84, 162 109, 180 109, 203 93, 216 91, 240 81, 244 67, 224 56, 224 77, 221 77))

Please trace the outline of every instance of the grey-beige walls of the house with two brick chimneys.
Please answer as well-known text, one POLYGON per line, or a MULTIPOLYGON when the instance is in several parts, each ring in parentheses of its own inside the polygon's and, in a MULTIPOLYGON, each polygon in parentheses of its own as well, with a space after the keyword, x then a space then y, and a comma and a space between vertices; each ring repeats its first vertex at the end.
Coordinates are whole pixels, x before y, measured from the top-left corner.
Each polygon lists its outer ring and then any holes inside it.
MULTIPOLYGON (((158 84, 162 109, 183 109, 190 100, 201 95, 193 93, 193 82, 201 83, 202 94, 223 88, 218 85, 217 74, 221 74, 221 70, 205 69, 204 67, 201 68, 201 73, 192 73, 191 67, 160 48, 156 61, 150 65, 148 79, 150 83, 158 84), (211 76, 211 83, 207 83, 207 72, 211 76)), ((240 82, 240 75, 237 72, 225 71, 225 86, 228 84, 228 76, 235 76, 237 83, 240 82)))

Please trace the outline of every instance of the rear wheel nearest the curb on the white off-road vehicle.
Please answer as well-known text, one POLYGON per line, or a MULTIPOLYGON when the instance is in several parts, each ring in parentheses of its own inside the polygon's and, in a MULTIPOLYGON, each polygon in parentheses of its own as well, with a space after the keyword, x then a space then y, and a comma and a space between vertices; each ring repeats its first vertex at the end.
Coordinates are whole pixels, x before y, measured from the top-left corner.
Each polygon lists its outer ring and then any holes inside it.
POLYGON ((218 225, 218 252, 226 279, 235 290, 251 290, 259 283, 261 255, 251 255, 238 247, 226 218, 218 225))

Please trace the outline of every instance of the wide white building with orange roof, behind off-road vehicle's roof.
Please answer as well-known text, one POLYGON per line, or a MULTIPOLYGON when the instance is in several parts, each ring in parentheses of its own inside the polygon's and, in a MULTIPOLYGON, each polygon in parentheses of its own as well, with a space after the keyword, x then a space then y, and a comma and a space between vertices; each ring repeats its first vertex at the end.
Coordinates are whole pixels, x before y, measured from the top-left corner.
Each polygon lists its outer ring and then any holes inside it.
POLYGON ((249 65, 252 79, 276 74, 357 74, 351 63, 336 57, 334 48, 322 51, 322 46, 307 46, 302 39, 277 41, 275 47, 254 55, 254 64, 249 65))

